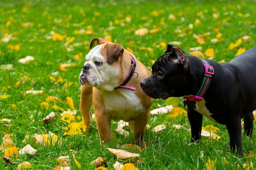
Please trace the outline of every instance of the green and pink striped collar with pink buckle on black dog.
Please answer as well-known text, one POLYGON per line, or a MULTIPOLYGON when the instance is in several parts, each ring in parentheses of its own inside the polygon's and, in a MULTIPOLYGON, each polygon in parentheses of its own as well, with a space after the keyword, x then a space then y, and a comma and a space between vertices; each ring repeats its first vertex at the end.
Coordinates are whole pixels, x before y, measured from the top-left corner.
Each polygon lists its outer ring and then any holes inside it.
POLYGON ((203 100, 203 96, 207 91, 207 88, 210 85, 211 82, 211 77, 214 75, 214 69, 213 66, 210 66, 209 63, 203 59, 201 59, 202 63, 204 64, 204 79, 202 82, 202 85, 198 91, 198 93, 196 93, 195 96, 184 96, 185 100, 190 100, 190 101, 194 101, 194 102, 200 102, 201 100, 203 100))

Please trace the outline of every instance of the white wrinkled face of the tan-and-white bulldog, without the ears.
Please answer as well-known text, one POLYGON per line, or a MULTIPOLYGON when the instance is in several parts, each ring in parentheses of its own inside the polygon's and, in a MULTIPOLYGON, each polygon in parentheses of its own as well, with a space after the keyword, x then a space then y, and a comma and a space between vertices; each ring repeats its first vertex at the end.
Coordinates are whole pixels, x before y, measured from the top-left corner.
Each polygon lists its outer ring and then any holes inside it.
POLYGON ((82 85, 103 88, 107 91, 112 91, 118 86, 119 68, 108 63, 107 57, 102 54, 102 48, 108 43, 110 42, 97 45, 86 55, 86 62, 79 76, 82 85))

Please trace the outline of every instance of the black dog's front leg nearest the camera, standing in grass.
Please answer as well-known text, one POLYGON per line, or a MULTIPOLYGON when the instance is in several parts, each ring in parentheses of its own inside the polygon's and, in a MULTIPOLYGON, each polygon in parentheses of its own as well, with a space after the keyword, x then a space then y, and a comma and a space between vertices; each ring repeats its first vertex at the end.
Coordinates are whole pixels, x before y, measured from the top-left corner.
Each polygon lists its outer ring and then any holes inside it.
POLYGON ((226 124, 226 127, 229 132, 231 152, 243 156, 241 118, 232 117, 226 124))

